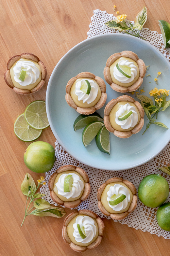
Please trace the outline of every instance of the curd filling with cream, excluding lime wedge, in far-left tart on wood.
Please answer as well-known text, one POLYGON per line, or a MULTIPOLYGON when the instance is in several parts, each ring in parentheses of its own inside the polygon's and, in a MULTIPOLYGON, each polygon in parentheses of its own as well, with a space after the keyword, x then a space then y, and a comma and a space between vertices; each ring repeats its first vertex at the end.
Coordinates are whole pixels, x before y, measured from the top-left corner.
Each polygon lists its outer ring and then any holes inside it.
POLYGON ((11 80, 16 88, 31 90, 41 81, 41 68, 37 62, 21 58, 10 69, 11 80), (21 70, 26 70, 24 81, 19 79, 21 70))

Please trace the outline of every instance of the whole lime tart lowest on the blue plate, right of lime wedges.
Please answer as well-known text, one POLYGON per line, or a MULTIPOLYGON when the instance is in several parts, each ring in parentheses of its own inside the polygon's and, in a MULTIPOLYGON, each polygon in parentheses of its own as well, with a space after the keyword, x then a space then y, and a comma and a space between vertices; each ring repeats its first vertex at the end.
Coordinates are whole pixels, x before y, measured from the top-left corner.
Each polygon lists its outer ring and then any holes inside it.
POLYGON ((141 104, 127 95, 107 103, 104 109, 104 124, 108 131, 119 138, 129 138, 138 133, 144 124, 145 112, 141 104))

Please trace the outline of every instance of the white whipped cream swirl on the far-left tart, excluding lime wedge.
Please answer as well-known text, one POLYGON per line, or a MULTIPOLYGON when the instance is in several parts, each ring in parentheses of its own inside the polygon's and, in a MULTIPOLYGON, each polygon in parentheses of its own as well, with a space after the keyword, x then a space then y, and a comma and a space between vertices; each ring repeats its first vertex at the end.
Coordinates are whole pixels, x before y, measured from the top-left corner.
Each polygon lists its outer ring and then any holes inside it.
POLYGON ((32 61, 19 60, 17 61, 13 70, 14 70, 14 80, 22 86, 34 84, 40 75, 39 69, 35 66, 34 62, 32 61), (26 77, 23 82, 19 79, 22 69, 27 70, 26 77))

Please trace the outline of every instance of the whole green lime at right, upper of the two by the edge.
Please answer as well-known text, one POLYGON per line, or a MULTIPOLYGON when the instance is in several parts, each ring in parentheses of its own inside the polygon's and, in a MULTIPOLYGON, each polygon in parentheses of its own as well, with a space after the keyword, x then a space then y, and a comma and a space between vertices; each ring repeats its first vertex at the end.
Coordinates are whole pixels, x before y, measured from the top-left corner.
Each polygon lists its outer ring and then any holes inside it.
POLYGON ((150 174, 139 184, 138 196, 140 201, 148 207, 158 207, 169 195, 169 185, 160 174, 150 174))

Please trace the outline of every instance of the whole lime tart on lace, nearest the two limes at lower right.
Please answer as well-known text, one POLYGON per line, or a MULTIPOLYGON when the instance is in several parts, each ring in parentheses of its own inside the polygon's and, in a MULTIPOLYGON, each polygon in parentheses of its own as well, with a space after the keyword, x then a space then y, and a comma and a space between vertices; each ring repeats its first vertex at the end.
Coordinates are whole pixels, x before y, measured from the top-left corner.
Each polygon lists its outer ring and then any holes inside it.
POLYGON ((124 219, 137 207, 135 186, 127 180, 114 177, 100 186, 98 193, 100 211, 113 219, 124 219))

